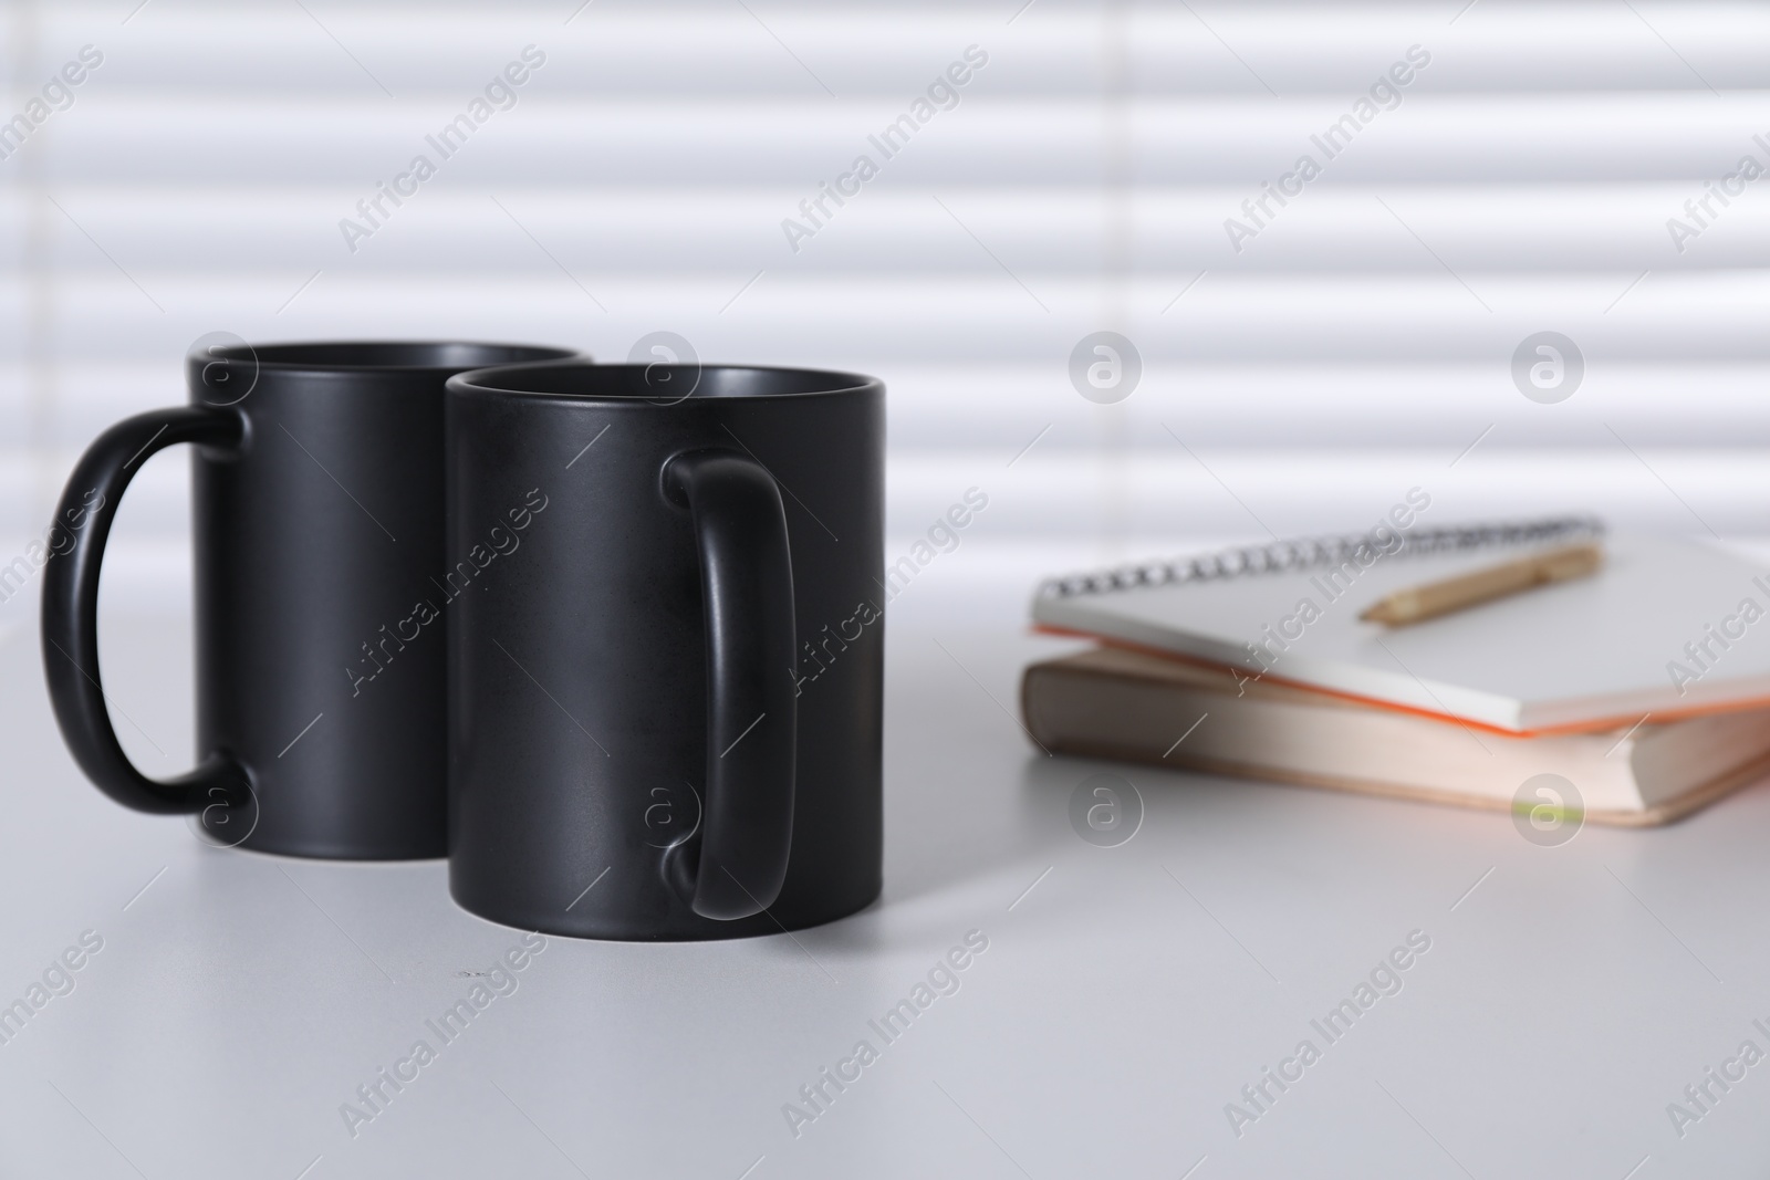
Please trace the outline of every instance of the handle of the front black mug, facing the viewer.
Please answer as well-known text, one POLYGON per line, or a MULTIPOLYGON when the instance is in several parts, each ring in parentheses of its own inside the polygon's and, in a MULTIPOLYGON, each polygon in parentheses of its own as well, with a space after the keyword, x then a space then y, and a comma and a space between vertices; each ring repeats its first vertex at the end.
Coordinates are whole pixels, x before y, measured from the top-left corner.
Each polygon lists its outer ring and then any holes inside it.
POLYGON ((706 626, 706 800, 664 874, 703 918, 773 904, 793 842, 798 706, 793 559, 773 476, 733 451, 664 465, 664 495, 694 518, 706 626))

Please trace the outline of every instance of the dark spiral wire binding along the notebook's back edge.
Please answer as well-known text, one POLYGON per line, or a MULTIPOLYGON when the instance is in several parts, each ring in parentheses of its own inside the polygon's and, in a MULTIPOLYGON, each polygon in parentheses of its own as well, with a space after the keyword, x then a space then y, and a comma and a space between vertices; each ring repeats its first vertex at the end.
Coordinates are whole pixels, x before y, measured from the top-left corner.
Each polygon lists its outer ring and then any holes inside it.
MULTIPOLYGON (((1441 529, 1414 529, 1409 533, 1395 529, 1393 533, 1400 534, 1402 545, 1389 548, 1388 554, 1391 557, 1418 557, 1421 554, 1444 554, 1499 545, 1575 541, 1600 538, 1604 531, 1604 520, 1598 517, 1545 517, 1542 520, 1462 524, 1441 529)), ((1365 552, 1384 552, 1386 545, 1395 545, 1393 534, 1379 540, 1375 531, 1372 531, 1225 548, 1195 557, 1147 561, 1115 570, 1046 579, 1039 584, 1039 598, 1076 598, 1078 594, 1106 594, 1110 591, 1150 586, 1181 586, 1186 582, 1216 582, 1260 573, 1317 570, 1356 561, 1361 548, 1365 552)))

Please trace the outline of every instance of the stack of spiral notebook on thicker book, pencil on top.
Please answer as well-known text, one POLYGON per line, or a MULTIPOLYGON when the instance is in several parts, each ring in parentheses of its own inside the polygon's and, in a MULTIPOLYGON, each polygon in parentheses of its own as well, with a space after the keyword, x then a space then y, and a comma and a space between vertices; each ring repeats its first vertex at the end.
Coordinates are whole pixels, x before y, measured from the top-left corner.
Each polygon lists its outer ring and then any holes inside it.
POLYGON ((1770 579, 1558 518, 1384 531, 1058 579, 1027 669, 1053 754, 1657 824, 1770 775, 1770 579), (1460 600, 1458 600, 1460 598, 1460 600))

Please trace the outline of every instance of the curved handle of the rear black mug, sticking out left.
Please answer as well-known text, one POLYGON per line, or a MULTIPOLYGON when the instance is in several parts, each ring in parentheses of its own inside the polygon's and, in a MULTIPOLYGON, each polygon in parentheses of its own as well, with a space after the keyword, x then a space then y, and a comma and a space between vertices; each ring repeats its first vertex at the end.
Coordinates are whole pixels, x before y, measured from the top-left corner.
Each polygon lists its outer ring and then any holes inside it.
POLYGON ((244 437, 239 414, 181 405, 127 418, 101 433, 74 464, 62 502, 55 506, 51 556, 42 570, 42 672, 50 704, 74 762, 99 791, 138 812, 175 816, 232 805, 248 785, 246 770, 227 754, 211 754, 177 778, 149 778, 117 741, 99 679, 99 564, 124 488, 140 462, 175 442, 237 448, 244 437), (96 497, 96 502, 94 502, 96 497), (55 531, 73 533, 65 552, 55 531))

